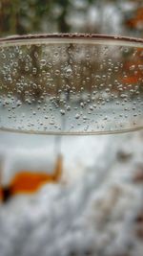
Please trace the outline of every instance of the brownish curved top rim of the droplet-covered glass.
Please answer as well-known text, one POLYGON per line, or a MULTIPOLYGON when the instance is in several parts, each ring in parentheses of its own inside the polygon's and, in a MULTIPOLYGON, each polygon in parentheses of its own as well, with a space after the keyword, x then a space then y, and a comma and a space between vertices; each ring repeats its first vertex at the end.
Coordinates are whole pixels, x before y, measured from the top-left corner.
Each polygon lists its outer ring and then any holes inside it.
POLYGON ((101 34, 30 34, 30 35, 9 35, 6 37, 0 38, 0 45, 4 45, 5 43, 9 44, 23 44, 24 42, 32 43, 33 41, 38 42, 47 42, 47 39, 50 40, 75 40, 76 42, 82 40, 86 42, 95 42, 95 41, 113 41, 117 42, 117 44, 133 44, 133 43, 141 43, 143 44, 143 38, 137 37, 129 37, 129 36, 122 36, 122 35, 101 35, 101 34))

